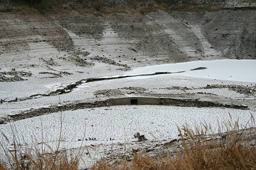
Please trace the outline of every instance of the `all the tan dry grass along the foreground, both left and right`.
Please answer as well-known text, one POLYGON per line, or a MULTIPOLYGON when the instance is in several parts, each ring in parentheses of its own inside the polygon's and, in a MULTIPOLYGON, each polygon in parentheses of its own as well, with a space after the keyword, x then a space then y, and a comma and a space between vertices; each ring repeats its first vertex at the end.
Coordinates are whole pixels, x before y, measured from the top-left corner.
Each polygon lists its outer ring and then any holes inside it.
MULTIPOLYGON (((23 145, 15 125, 10 128, 12 138, 2 133, 0 140, 0 170, 78 170, 79 155, 84 151, 79 150, 76 155, 70 156, 66 150, 59 149, 60 143, 53 150, 49 145, 39 145, 36 139, 32 146, 23 145), (12 143, 12 147, 6 143, 12 143)), ((210 124, 202 122, 193 129, 184 125, 178 130, 183 147, 176 145, 175 152, 163 152, 158 157, 138 153, 131 162, 124 158, 115 164, 101 159, 92 166, 92 170, 256 169, 256 131, 252 114, 245 125, 240 125, 238 119, 234 121, 230 116, 230 120, 219 123, 217 134, 210 124)))

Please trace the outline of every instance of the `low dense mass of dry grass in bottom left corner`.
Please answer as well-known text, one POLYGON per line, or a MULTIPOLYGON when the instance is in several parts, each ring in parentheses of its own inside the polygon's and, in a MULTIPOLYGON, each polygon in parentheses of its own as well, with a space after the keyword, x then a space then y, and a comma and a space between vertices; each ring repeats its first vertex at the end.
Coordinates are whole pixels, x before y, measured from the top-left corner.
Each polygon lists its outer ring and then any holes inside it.
POLYGON ((65 150, 53 151, 50 146, 41 147, 37 142, 32 147, 24 146, 17 134, 13 134, 13 139, 8 139, 2 133, 6 142, 13 143, 13 148, 0 143, 0 170, 78 170, 78 155, 70 156, 65 150))

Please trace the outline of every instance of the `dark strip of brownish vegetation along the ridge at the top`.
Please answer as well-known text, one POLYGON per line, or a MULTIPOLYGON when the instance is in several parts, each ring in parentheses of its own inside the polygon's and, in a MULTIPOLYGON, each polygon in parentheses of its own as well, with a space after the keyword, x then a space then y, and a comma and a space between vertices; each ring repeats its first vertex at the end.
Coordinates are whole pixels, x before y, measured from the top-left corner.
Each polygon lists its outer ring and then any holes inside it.
MULTIPOLYGON (((73 1, 60 1, 60 0, 42 0, 42 1, 17 1, 13 0, 14 4, 16 4, 17 8, 10 7, 2 7, 0 8, 0 12, 7 11, 21 11, 22 14, 25 14, 28 10, 28 6, 30 8, 34 8, 33 11, 36 10, 35 13, 46 14, 48 12, 62 12, 69 14, 74 8, 77 8, 77 11, 80 14, 84 13, 95 13, 95 11, 112 14, 112 13, 148 13, 152 11, 156 11, 157 9, 164 11, 172 11, 172 10, 184 10, 184 11, 219 11, 222 9, 234 9, 234 10, 244 10, 244 9, 255 9, 255 7, 224 7, 221 4, 213 5, 214 1, 206 1, 204 4, 200 4, 196 1, 182 1, 182 3, 178 3, 176 1, 142 1, 136 2, 133 0, 125 0, 124 5, 118 5, 118 3, 108 4, 104 0, 73 0, 73 1), (73 6, 74 5, 74 6, 73 6), (73 7, 72 7, 73 6, 73 7), (19 8, 18 8, 19 7, 19 8)), ((251 1, 250 1, 251 2, 251 1)), ((249 2, 248 2, 249 3, 249 2)))

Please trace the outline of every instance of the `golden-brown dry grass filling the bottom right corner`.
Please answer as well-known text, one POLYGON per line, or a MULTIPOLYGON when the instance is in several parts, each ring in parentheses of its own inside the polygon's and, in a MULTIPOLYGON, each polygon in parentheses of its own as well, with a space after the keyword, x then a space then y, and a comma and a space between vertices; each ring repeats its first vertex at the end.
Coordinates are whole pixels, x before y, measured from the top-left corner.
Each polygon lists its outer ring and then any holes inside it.
POLYGON ((209 124, 203 128, 192 130, 184 127, 182 131, 188 134, 187 140, 180 131, 183 148, 175 153, 163 153, 154 158, 147 153, 140 153, 131 162, 125 159, 121 163, 110 164, 100 160, 92 167, 93 170, 210 170, 210 169, 256 169, 255 127, 253 116, 242 130, 238 121, 219 124, 219 134, 212 132, 209 124), (251 124, 250 124, 251 122, 251 124), (249 128, 249 129, 248 129, 249 128), (227 133, 223 132, 226 130, 227 133), (247 134, 247 136, 242 136, 247 134), (250 140, 248 140, 248 138, 250 140))

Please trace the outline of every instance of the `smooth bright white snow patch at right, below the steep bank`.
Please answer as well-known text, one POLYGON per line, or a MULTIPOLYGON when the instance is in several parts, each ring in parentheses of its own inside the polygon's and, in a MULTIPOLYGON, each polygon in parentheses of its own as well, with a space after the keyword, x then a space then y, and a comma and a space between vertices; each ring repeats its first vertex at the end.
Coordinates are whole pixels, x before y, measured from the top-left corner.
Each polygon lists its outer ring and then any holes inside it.
MULTIPOLYGON (((147 66, 134 69, 122 76, 154 74, 157 72, 170 72, 170 75, 186 75, 231 81, 251 81, 256 82, 256 60, 210 60, 210 61, 190 61, 184 63, 164 64, 147 66), (201 70, 191 70, 198 67, 206 67, 201 70), (183 73, 174 73, 181 72, 183 73)), ((154 75, 154 76, 163 76, 154 75)), ((112 76, 111 76, 112 77, 112 76)), ((116 76, 115 76, 116 77, 116 76)), ((131 77, 132 79, 143 79, 149 76, 131 77)), ((152 76, 150 76, 152 77, 152 76)))

